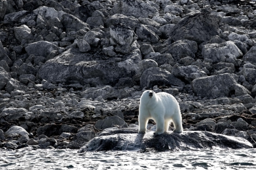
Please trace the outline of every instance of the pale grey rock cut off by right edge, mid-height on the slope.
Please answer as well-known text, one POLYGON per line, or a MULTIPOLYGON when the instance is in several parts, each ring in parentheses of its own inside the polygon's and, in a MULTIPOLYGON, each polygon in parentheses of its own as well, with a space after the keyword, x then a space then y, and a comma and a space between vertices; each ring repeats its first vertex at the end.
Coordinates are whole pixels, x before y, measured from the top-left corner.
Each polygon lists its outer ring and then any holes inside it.
POLYGON ((249 82, 249 84, 254 85, 256 82, 256 65, 251 63, 246 63, 243 65, 243 76, 249 82))

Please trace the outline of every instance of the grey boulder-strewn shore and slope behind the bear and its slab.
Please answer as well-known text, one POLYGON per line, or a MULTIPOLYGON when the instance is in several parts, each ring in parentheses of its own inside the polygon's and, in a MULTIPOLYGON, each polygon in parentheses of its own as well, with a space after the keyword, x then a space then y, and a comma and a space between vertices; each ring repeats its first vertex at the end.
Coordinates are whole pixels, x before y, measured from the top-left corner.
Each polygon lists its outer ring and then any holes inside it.
POLYGON ((255 27, 254 1, 0 1, 0 148, 133 133, 147 88, 178 100, 185 131, 255 148, 255 27))

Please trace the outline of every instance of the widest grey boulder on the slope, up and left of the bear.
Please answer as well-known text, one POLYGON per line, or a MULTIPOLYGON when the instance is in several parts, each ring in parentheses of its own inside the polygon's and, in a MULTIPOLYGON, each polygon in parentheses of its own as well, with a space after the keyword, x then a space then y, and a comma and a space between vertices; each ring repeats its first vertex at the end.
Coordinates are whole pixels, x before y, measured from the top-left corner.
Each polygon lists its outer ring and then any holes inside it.
POLYGON ((133 66, 140 56, 137 53, 136 56, 131 55, 127 55, 129 61, 118 62, 114 58, 100 59, 102 54, 80 53, 77 48, 71 48, 46 61, 39 70, 39 77, 55 83, 114 86, 120 78, 131 77, 135 72, 133 66), (136 61, 132 58, 136 58, 136 61))

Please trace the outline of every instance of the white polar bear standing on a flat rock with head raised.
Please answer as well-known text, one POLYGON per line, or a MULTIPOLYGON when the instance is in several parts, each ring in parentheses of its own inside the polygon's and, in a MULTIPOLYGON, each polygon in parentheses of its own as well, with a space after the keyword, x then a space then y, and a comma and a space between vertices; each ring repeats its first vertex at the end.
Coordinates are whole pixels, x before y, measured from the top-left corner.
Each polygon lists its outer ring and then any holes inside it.
POLYGON ((167 132, 170 121, 174 124, 174 132, 183 131, 179 103, 166 92, 147 90, 142 93, 139 104, 139 134, 146 132, 150 118, 156 122, 155 135, 167 132))

